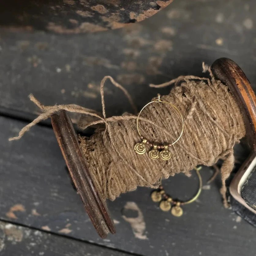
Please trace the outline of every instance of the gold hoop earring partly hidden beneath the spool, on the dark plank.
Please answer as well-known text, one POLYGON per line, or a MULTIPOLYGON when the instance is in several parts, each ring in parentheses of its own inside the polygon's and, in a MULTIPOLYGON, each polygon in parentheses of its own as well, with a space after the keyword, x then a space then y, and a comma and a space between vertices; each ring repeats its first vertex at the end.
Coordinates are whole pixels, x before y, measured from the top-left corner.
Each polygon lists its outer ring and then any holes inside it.
POLYGON ((162 211, 168 212, 169 210, 171 210, 171 214, 173 216, 176 216, 176 217, 182 216, 183 215, 183 209, 181 208, 181 206, 194 202, 195 200, 197 200, 197 198, 201 194, 202 178, 201 178, 201 175, 199 173, 201 168, 202 168, 201 166, 194 168, 194 170, 196 171, 196 174, 198 175, 199 188, 198 188, 198 191, 197 191, 196 195, 193 198, 191 198, 188 201, 173 200, 168 194, 165 193, 164 187, 161 185, 161 178, 160 178, 159 188, 157 190, 154 190, 151 193, 152 201, 153 202, 160 202, 159 207, 162 211))

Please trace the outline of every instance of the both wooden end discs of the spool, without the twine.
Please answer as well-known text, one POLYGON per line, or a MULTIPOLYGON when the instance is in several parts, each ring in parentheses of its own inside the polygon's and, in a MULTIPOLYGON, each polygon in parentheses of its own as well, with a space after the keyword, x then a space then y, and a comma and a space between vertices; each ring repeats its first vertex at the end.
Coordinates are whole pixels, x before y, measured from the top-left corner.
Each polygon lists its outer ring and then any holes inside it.
MULTIPOLYGON (((240 67, 228 58, 217 59, 211 70, 215 77, 227 85, 235 96, 243 114, 250 147, 255 154, 256 99, 250 82, 240 67)), ((102 238, 106 237, 109 232, 114 234, 115 226, 105 202, 100 198, 93 183, 70 117, 66 111, 60 111, 58 114, 52 115, 51 122, 71 178, 92 224, 102 238)))

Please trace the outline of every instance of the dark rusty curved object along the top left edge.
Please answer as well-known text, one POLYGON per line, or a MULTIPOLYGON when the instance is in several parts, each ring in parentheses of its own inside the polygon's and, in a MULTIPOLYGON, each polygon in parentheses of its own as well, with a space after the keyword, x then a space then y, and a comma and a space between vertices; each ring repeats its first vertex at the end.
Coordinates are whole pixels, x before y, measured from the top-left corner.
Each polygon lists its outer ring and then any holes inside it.
POLYGON ((1 4, 0 26, 60 34, 99 32, 143 21, 172 1, 10 0, 1 4))

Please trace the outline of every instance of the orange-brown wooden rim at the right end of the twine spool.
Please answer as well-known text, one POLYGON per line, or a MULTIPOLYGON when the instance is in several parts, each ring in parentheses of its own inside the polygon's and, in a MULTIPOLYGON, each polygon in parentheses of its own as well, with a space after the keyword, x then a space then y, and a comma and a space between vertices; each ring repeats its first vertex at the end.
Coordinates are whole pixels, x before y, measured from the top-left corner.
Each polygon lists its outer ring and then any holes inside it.
POLYGON ((256 151, 256 96, 243 70, 229 58, 219 58, 211 66, 214 77, 227 85, 240 108, 250 148, 256 151))

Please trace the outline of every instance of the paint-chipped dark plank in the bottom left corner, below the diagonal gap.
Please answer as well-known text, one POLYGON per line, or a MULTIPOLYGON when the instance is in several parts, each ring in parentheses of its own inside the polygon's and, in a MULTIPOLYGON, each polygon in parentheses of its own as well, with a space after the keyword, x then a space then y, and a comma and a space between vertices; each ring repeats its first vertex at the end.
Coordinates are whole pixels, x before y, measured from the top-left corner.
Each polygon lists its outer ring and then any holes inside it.
POLYGON ((128 256, 131 254, 0 221, 1 256, 128 256))

